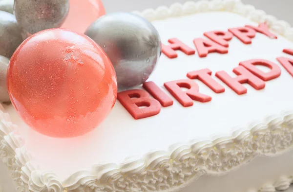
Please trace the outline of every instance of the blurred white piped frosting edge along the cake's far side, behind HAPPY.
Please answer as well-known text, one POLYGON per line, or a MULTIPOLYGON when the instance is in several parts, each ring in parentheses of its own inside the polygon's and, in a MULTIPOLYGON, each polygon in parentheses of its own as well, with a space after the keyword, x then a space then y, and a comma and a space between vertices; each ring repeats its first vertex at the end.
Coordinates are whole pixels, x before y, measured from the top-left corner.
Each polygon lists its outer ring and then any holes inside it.
POLYGON ((156 9, 149 8, 143 12, 133 11, 132 13, 152 22, 209 11, 229 11, 258 23, 266 22, 272 31, 293 41, 293 28, 287 21, 267 15, 263 10, 255 9, 253 5, 243 4, 241 0, 200 0, 197 2, 190 0, 184 4, 173 3, 170 7, 159 6, 156 9))

